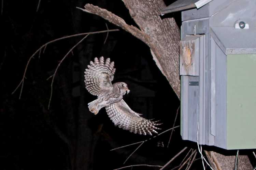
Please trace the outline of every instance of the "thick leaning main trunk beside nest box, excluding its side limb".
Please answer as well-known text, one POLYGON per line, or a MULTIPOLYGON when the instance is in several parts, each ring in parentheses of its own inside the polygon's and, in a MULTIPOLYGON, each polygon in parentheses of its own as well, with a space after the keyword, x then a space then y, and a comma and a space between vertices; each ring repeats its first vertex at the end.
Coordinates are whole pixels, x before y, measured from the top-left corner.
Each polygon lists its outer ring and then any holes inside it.
POLYGON ((173 18, 161 19, 162 0, 123 0, 133 20, 151 38, 151 52, 158 68, 180 98, 179 42, 180 29, 173 18))

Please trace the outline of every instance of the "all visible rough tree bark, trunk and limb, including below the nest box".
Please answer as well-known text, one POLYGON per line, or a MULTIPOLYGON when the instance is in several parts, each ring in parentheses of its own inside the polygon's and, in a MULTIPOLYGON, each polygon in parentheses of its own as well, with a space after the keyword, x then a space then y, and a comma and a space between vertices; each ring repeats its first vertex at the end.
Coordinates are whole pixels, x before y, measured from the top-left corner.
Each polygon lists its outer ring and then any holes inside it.
MULTIPOLYGON (((85 12, 96 14, 128 31, 147 44, 156 65, 169 81, 180 98, 179 41, 180 30, 173 18, 160 18, 160 10, 166 7, 162 0, 123 0, 131 17, 139 26, 129 26, 122 18, 91 4, 85 5, 85 12)), ((213 151, 205 151, 215 170, 234 168, 236 156, 225 156, 213 151)), ((252 169, 247 155, 239 156, 239 169, 252 169)))

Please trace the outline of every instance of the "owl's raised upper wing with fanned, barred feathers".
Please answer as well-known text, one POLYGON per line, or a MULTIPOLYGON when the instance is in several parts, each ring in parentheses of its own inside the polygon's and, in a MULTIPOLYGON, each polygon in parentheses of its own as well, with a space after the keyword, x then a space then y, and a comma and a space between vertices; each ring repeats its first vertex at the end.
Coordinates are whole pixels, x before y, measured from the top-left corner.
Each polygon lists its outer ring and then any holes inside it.
POLYGON ((92 95, 99 96, 101 93, 112 90, 111 81, 115 74, 114 62, 110 63, 110 58, 104 61, 104 57, 94 58, 94 62, 90 62, 88 69, 85 69, 85 87, 92 95))

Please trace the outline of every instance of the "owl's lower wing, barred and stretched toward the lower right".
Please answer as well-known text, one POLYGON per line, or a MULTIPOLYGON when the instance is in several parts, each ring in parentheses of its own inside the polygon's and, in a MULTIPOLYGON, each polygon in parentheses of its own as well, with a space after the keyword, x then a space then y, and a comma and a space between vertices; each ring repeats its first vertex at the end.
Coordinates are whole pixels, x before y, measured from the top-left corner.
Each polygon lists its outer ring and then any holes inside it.
POLYGON ((160 125, 156 123, 157 121, 153 122, 140 117, 140 114, 132 111, 124 100, 106 106, 106 112, 115 125, 133 133, 152 135, 152 132, 157 133, 155 130, 160 129, 156 127, 160 125))

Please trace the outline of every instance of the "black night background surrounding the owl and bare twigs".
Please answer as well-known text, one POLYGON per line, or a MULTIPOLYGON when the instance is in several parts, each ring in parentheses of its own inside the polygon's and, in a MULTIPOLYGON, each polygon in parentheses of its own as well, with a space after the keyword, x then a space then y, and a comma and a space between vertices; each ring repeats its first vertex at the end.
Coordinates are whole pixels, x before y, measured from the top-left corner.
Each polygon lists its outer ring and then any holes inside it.
MULTIPOLYGON (((0 170, 101 170, 127 165, 165 165, 184 147, 195 143, 181 140, 175 129, 170 147, 170 132, 139 146, 111 149, 150 138, 115 127, 101 109, 98 115, 89 112, 87 103, 96 99, 84 86, 84 70, 94 57, 110 57, 115 62, 113 82, 126 82, 131 90, 126 103, 147 119, 161 120, 163 132, 173 126, 180 101, 167 79, 157 68, 150 49, 139 39, 123 31, 89 35, 61 63, 53 83, 47 80, 65 54, 84 36, 63 39, 47 45, 31 60, 19 100, 20 88, 29 57, 43 44, 67 35, 119 29, 108 21, 75 7, 86 3, 105 8, 136 26, 124 3, 104 0, 4 0, 1 18, 1 104, 0 104, 0 170)), ((169 4, 171 2, 168 2, 169 4)), ((167 5, 169 5, 167 4, 167 5)), ((172 14, 180 21, 180 13, 172 14)), ((180 26, 180 23, 178 23, 180 26)), ((180 114, 175 125, 180 125, 180 114)), ((188 149, 189 150, 189 149, 188 149)), ((179 166, 184 152, 168 167, 179 166)), ((199 155, 197 155, 199 158, 199 155)), ((186 166, 185 166, 186 168, 186 166)), ((191 169, 201 169, 201 160, 191 169)), ((127 168, 131 169, 131 168, 127 168)), ((159 169, 133 167, 135 169, 159 169)), ((177 168, 178 169, 178 168, 177 168)))

